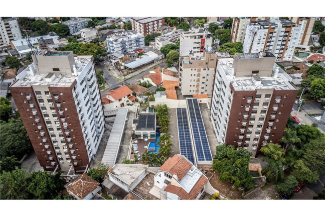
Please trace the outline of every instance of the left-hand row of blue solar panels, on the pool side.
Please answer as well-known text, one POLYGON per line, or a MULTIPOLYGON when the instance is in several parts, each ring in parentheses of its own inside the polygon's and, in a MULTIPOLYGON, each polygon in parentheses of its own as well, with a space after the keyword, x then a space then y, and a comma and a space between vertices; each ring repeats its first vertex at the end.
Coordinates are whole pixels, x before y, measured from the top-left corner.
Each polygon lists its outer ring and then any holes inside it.
POLYGON ((195 164, 186 108, 176 108, 181 155, 195 164))

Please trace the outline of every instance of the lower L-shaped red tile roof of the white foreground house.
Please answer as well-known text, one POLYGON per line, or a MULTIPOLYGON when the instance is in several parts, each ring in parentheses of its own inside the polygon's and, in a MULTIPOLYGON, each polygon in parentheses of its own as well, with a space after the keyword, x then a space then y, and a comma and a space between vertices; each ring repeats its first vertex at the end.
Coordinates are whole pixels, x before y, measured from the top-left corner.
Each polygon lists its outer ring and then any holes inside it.
POLYGON ((208 178, 202 175, 197 183, 193 186, 190 193, 186 192, 181 187, 172 185, 171 182, 166 186, 165 191, 177 194, 182 200, 193 200, 199 195, 207 181, 208 178))

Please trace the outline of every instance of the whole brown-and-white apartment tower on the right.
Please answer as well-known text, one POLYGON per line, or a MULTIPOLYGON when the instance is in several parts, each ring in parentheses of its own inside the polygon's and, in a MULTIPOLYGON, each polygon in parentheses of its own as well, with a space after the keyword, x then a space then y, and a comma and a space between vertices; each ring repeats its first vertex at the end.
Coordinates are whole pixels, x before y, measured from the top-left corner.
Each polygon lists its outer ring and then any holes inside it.
POLYGON ((259 153, 278 143, 298 90, 270 52, 218 59, 211 121, 221 143, 259 153))

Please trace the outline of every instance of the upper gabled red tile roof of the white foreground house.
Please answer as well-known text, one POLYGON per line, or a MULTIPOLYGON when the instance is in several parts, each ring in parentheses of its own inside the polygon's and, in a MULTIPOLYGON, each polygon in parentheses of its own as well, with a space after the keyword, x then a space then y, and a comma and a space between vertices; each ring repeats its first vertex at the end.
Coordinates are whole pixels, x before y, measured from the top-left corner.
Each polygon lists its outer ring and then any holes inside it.
POLYGON ((169 158, 162 166, 159 168, 160 171, 169 172, 171 175, 176 174, 179 181, 186 175, 186 173, 193 166, 185 157, 180 155, 174 155, 169 158))

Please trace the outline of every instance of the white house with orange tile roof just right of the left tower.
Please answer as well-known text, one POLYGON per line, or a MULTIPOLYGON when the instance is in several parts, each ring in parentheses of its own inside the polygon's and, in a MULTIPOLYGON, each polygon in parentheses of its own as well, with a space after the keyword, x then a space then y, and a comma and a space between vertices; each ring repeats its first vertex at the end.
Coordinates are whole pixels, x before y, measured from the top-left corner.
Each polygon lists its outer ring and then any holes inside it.
POLYGON ((133 91, 125 85, 114 90, 109 90, 106 93, 106 97, 102 98, 104 109, 133 105, 136 97, 132 93, 133 91))

